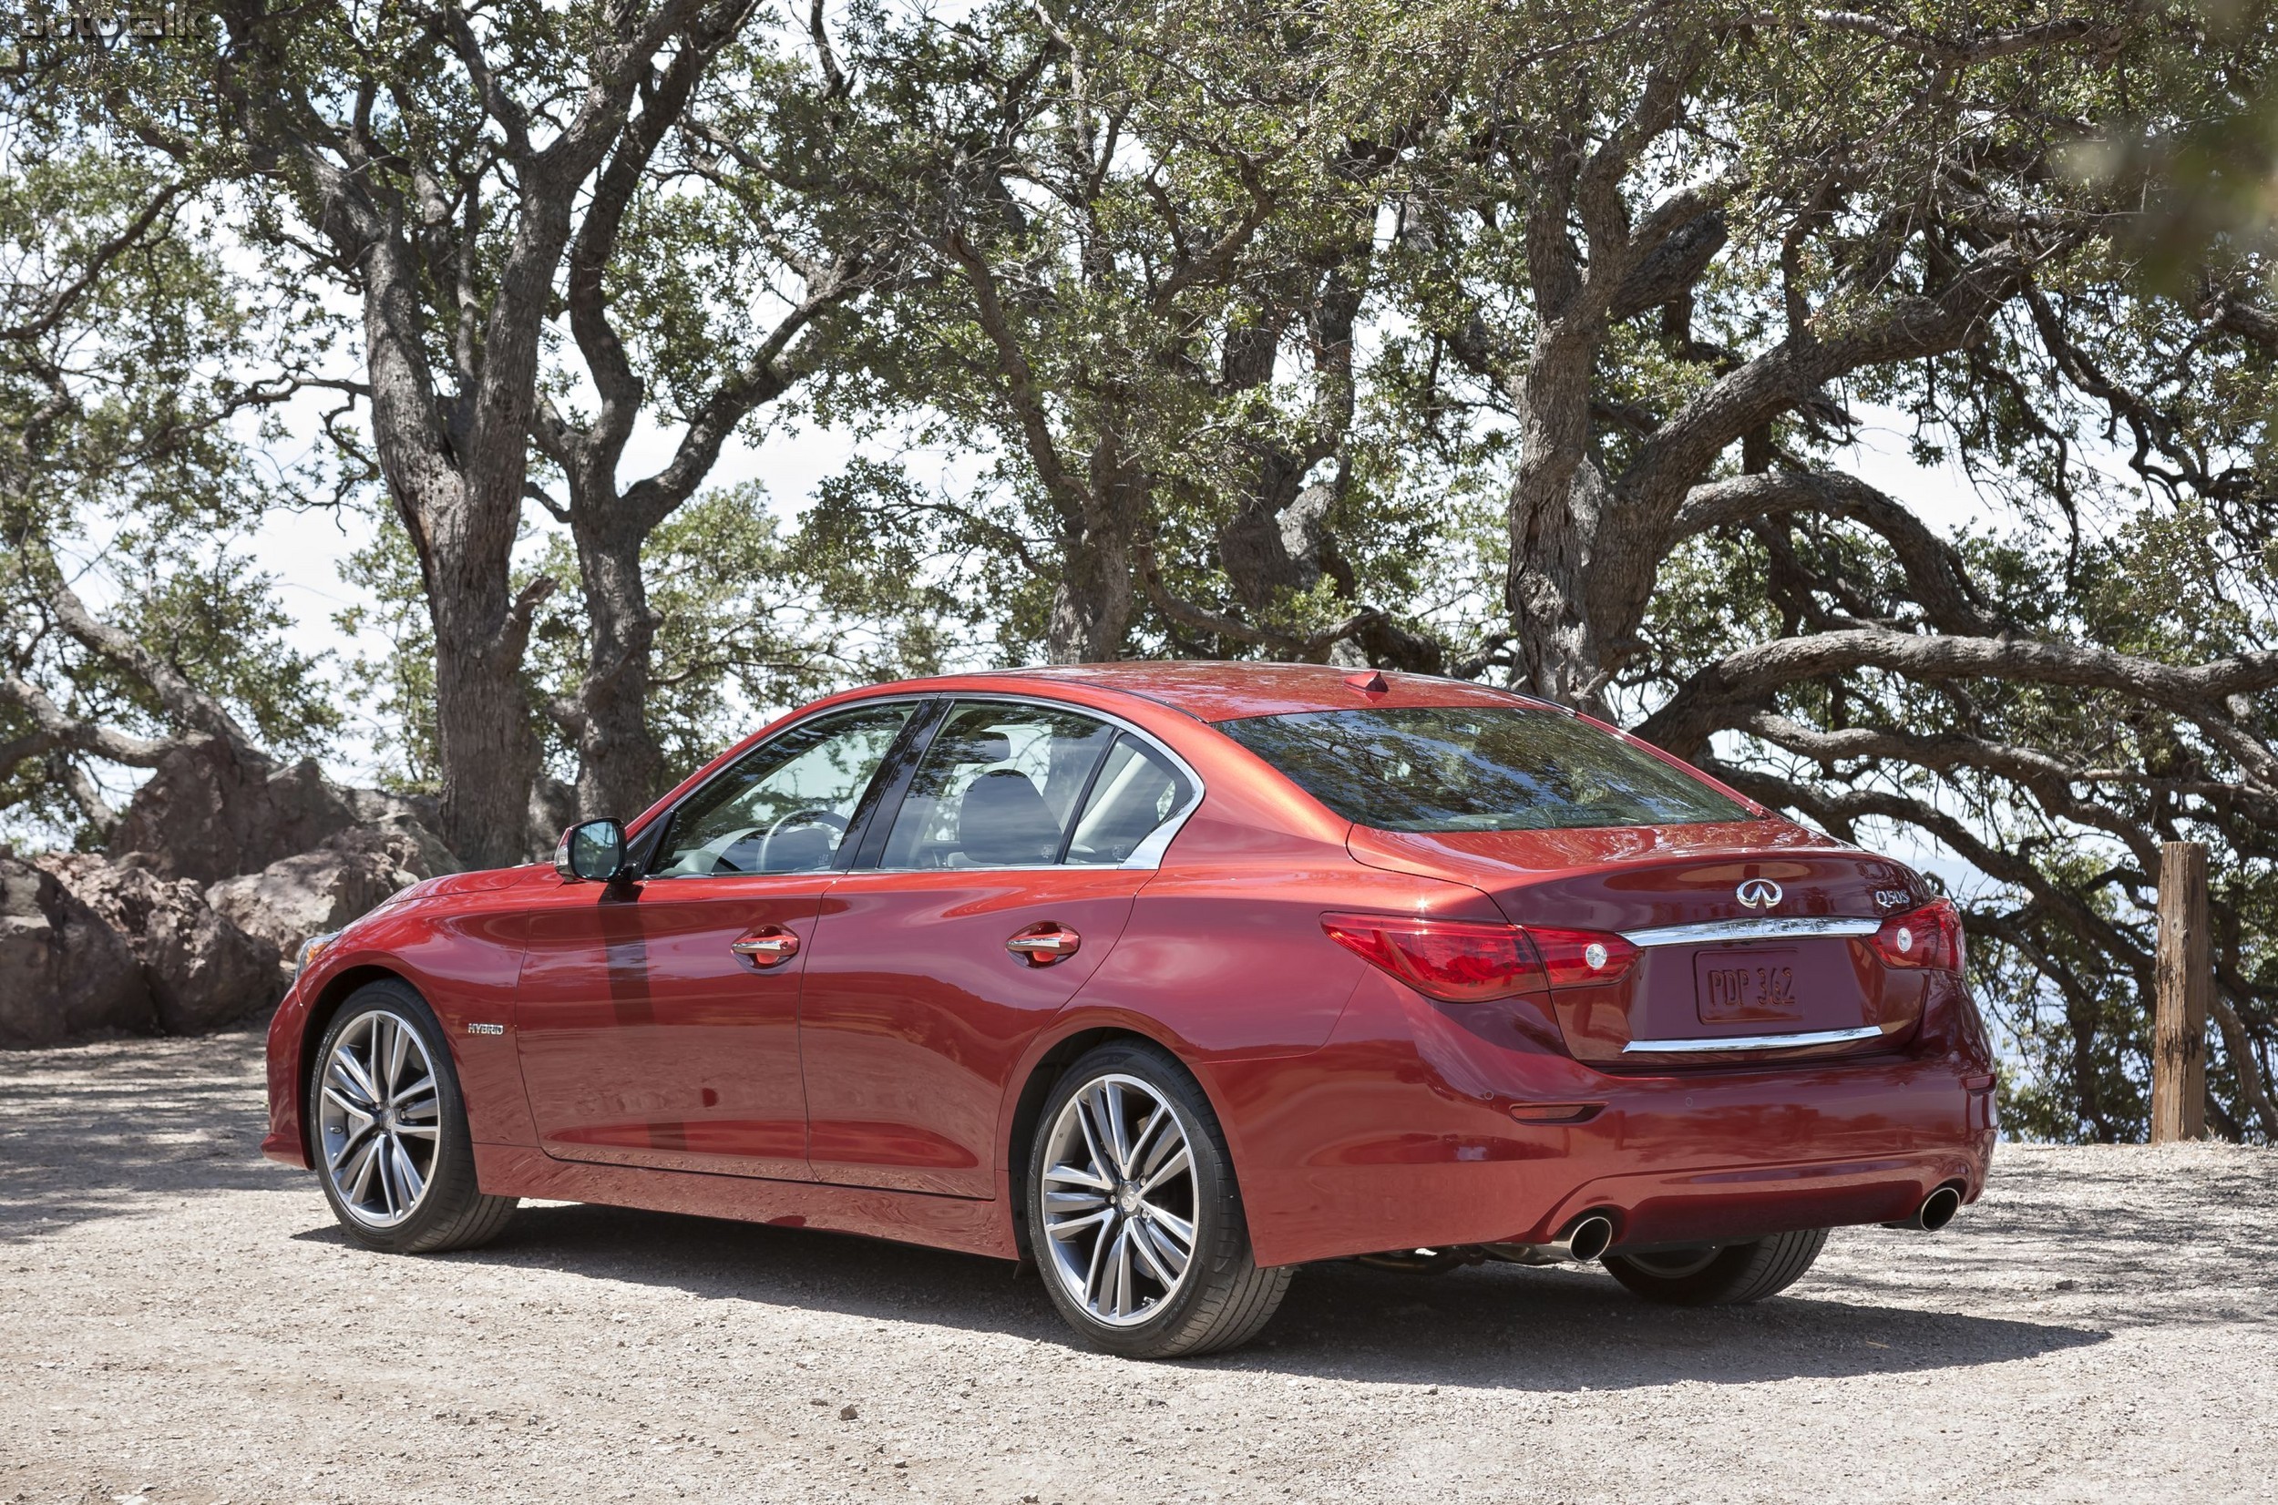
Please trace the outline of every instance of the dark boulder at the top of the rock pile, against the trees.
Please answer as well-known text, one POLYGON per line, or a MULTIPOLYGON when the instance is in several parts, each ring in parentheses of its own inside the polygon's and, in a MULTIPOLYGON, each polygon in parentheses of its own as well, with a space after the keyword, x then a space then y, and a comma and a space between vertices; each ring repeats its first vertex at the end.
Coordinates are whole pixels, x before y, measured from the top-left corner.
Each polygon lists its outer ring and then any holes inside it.
POLYGON ((355 817, 312 758, 248 763, 210 738, 159 760, 112 831, 112 856, 162 879, 214 883, 308 852, 355 817))

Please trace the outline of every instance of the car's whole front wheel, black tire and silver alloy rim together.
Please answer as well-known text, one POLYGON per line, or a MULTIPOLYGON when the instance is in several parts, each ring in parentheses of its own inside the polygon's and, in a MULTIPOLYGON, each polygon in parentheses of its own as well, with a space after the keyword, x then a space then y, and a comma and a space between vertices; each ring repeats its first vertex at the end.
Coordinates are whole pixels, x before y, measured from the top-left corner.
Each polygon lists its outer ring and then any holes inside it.
POLYGON ((408 984, 358 988, 323 1034, 308 1091, 317 1179, 364 1248, 490 1243, 519 1204, 474 1182, 467 1107, 442 1027, 408 984))

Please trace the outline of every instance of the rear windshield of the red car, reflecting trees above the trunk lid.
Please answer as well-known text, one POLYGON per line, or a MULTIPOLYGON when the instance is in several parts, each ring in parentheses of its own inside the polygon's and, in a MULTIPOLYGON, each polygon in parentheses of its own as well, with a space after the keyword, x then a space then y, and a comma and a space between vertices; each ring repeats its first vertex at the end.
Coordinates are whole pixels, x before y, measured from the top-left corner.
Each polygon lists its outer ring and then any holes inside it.
POLYGON ((1337 815, 1380 831, 1747 820, 1683 770, 1556 710, 1417 706, 1219 722, 1337 815))

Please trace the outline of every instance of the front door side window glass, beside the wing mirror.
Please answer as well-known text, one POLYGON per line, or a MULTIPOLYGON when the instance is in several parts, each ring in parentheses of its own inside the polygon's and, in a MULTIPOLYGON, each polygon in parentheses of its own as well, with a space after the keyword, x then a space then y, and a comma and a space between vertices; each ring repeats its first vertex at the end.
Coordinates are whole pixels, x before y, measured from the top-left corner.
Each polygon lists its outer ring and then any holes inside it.
POLYGON ((672 813, 649 877, 829 867, 911 710, 909 701, 841 710, 761 742, 672 813))

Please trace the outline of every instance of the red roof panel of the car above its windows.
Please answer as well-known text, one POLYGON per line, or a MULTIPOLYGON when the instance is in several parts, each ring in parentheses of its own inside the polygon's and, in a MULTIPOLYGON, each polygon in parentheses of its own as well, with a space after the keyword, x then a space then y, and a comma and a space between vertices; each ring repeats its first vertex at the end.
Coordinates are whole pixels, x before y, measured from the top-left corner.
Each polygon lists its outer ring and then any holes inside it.
POLYGON ((966 679, 1046 685, 1084 685, 1137 694, 1203 722, 1298 710, 1362 710, 1369 706, 1540 706, 1510 690, 1437 674, 1346 669, 1319 663, 1230 663, 1210 658, 1041 665, 989 669, 966 679))

